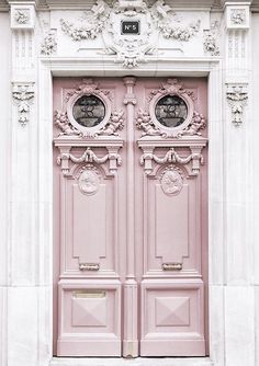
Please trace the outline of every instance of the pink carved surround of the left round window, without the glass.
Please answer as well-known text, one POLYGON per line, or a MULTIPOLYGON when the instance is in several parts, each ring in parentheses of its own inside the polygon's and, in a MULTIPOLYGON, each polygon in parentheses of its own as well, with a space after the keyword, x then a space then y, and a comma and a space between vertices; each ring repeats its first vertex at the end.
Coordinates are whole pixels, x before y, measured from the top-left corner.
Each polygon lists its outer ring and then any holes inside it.
POLYGON ((100 90, 92 80, 83 80, 77 89, 67 93, 65 99, 65 111, 55 111, 54 123, 60 129, 58 136, 78 136, 80 138, 97 138, 103 136, 119 136, 119 130, 124 126, 123 111, 113 111, 109 91, 100 90), (103 121, 94 127, 85 127, 74 118, 72 107, 82 95, 95 95, 105 105, 105 116, 103 121))

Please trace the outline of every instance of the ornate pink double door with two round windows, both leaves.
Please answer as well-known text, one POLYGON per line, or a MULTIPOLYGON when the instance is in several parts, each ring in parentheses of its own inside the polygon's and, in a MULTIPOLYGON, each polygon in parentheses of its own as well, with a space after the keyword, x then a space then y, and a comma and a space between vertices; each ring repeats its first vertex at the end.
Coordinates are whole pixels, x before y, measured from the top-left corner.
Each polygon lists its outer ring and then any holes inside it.
POLYGON ((58 356, 206 353, 205 79, 54 79, 58 356))

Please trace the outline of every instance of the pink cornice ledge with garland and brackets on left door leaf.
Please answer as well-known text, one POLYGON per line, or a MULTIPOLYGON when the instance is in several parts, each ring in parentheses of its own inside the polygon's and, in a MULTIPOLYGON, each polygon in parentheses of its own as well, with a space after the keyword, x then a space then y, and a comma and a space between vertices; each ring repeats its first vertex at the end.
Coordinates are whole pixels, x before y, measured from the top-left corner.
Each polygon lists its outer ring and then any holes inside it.
POLYGON ((119 155, 119 150, 122 147, 123 142, 122 140, 111 141, 111 140, 102 140, 94 144, 92 141, 89 144, 90 146, 86 144, 75 144, 75 140, 69 142, 68 139, 55 139, 54 140, 55 146, 59 148, 59 156, 57 157, 57 164, 61 167, 61 171, 64 176, 70 175, 70 164, 69 161, 71 161, 75 164, 80 163, 97 163, 97 164, 104 164, 109 163, 109 174, 108 175, 114 175, 117 171, 117 168, 122 164, 122 158, 119 155), (74 144, 74 145, 72 145, 74 144), (83 153, 81 153, 79 157, 71 153, 72 147, 86 147, 83 153), (105 148, 108 153, 105 153, 102 157, 98 157, 97 153, 92 150, 92 148, 105 148))

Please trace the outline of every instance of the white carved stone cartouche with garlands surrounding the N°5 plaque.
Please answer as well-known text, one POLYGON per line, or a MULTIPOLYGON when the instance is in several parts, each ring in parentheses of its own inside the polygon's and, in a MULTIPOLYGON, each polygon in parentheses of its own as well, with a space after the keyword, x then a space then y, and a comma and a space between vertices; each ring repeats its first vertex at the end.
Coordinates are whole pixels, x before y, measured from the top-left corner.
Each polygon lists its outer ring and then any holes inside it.
POLYGON ((154 55, 160 34, 164 38, 185 43, 198 34, 200 23, 201 20, 196 19, 185 24, 164 0, 151 7, 144 0, 119 0, 112 7, 97 0, 77 22, 60 19, 61 31, 74 42, 102 36, 104 53, 114 55, 114 61, 125 68, 135 68, 145 62, 148 55, 154 55), (125 36, 122 21, 139 22, 139 32, 125 36))

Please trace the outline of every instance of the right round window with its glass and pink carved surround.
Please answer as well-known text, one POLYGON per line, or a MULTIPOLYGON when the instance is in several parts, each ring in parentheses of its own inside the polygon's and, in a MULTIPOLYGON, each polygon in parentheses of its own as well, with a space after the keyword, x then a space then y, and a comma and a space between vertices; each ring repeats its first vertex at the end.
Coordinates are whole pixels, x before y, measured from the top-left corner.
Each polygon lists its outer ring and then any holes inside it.
POLYGON ((206 122, 202 114, 194 111, 193 100, 193 92, 184 89, 177 79, 168 79, 160 89, 153 90, 148 98, 148 111, 139 110, 136 117, 142 137, 201 136, 206 122))

